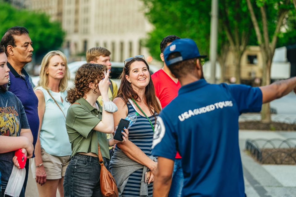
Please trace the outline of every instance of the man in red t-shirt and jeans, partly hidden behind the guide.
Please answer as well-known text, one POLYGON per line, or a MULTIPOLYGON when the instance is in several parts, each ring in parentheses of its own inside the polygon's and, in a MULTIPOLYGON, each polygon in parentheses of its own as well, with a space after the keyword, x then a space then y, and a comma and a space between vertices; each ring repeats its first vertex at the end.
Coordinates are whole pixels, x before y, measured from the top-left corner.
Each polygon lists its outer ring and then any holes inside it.
MULTIPOLYGON (((164 62, 163 51, 165 50, 165 47, 171 44, 176 39, 180 39, 180 37, 176 35, 168 35, 162 39, 160 43, 160 50, 161 50, 160 57, 163 62, 164 62)), ((160 100, 161 107, 164 108, 175 97, 177 97, 178 90, 181 87, 181 84, 177 78, 173 77, 168 66, 165 65, 165 62, 161 70, 158 70, 157 72, 151 75, 151 79, 153 81, 156 96, 160 100)), ((169 191, 169 197, 181 196, 181 191, 182 191, 183 181, 184 181, 181 163, 182 163, 182 157, 177 152, 175 161, 174 161, 173 179, 172 179, 172 185, 169 191)))

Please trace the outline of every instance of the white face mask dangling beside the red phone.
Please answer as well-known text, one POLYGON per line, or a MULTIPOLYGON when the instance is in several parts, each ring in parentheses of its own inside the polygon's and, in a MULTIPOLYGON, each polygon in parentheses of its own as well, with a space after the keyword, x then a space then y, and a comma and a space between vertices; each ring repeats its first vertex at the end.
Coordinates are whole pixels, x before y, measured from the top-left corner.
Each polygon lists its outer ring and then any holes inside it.
POLYGON ((4 194, 19 197, 25 181, 26 169, 18 169, 15 165, 12 168, 4 194))

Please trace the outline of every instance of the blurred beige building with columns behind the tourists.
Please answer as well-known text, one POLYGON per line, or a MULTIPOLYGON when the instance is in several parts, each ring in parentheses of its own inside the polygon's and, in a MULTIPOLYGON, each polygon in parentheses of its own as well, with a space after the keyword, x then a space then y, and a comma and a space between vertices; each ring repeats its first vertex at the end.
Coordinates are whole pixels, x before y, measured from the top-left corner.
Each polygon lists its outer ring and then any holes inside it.
POLYGON ((66 31, 65 49, 71 56, 82 55, 91 47, 111 51, 111 60, 144 54, 143 39, 152 29, 139 0, 12 0, 29 10, 48 14, 66 31))

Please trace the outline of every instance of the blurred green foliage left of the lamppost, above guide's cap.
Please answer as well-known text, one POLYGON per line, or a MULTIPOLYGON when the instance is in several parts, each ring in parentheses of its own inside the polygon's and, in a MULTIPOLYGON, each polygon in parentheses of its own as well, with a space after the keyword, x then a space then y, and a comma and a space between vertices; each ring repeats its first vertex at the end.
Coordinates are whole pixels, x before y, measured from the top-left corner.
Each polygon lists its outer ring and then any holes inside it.
POLYGON ((209 1, 194 0, 143 0, 146 16, 154 26, 148 33, 145 46, 150 54, 161 61, 160 42, 169 35, 192 38, 201 54, 209 53, 210 12, 209 1))

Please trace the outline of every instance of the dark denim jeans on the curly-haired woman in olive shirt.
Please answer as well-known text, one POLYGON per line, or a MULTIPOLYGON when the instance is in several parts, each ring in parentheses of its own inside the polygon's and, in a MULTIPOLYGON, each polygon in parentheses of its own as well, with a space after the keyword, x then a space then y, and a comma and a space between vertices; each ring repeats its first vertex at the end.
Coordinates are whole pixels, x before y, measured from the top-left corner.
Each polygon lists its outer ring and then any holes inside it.
MULTIPOLYGON (((106 158, 103 157, 103 160, 106 166, 106 158)), ((74 155, 64 176, 64 196, 101 197, 100 172, 98 157, 74 155)))

